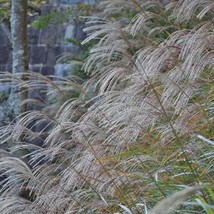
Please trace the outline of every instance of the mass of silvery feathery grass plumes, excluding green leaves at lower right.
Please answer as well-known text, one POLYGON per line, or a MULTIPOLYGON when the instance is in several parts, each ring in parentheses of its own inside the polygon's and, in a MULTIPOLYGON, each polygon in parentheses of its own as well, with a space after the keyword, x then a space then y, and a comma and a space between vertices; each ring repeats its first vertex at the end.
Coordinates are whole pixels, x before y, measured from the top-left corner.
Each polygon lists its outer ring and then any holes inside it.
MULTIPOLYGON (((41 137, 42 133, 27 128, 32 121, 45 121, 50 127, 44 147, 24 157, 30 159, 30 166, 13 157, 1 159, 2 170, 9 175, 0 200, 3 214, 15 213, 16 205, 20 213, 26 207, 28 213, 105 213, 112 204, 120 204, 119 200, 131 204, 135 197, 141 200, 143 192, 157 183, 154 179, 144 186, 144 182, 173 171, 168 162, 159 166, 156 155, 136 152, 130 157, 126 152, 139 138, 146 137, 147 130, 159 137, 160 146, 194 133, 190 123, 201 105, 190 101, 200 92, 203 71, 213 66, 213 23, 180 29, 164 13, 173 13, 172 17, 177 14, 178 21, 180 17, 186 19, 188 4, 193 9, 197 4, 204 6, 201 1, 195 2, 175 1, 165 11, 160 1, 101 1, 101 12, 91 17, 85 28, 88 37, 83 43, 97 43, 83 65, 92 75, 83 88, 73 81, 51 81, 35 74, 27 83, 19 83, 27 84, 30 90, 48 84, 53 94, 61 95, 65 84, 81 96, 67 100, 51 115, 48 111, 27 112, 15 125, 1 130, 5 141, 17 142, 41 137), (135 15, 112 19, 117 11, 134 11, 135 15), (167 26, 158 24, 160 18, 167 26), (172 33, 167 34, 168 30, 172 33), (151 39, 159 32, 166 33, 167 38, 151 39), (96 94, 92 99, 88 95, 91 91, 96 94), (145 171, 148 161, 156 167, 145 171), (133 194, 122 188, 132 185, 133 194), (17 195, 23 188, 35 194, 32 201, 17 195)), ((212 3, 206 3, 211 11, 212 3)), ((143 140, 138 143, 144 146, 143 140)), ((32 151, 32 147, 20 143, 12 151, 32 151)), ((183 153, 178 149, 178 154, 183 153)))

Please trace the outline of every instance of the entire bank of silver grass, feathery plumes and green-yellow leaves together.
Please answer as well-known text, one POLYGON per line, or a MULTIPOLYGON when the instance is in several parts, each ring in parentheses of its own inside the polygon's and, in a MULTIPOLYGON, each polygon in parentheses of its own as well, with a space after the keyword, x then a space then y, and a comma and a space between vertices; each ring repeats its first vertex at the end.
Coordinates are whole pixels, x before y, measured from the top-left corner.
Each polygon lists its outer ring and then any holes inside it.
POLYGON ((14 146, 0 212, 213 213, 213 13, 211 0, 100 1, 82 42, 89 80, 29 73, 29 90, 63 99, 1 129, 14 146))

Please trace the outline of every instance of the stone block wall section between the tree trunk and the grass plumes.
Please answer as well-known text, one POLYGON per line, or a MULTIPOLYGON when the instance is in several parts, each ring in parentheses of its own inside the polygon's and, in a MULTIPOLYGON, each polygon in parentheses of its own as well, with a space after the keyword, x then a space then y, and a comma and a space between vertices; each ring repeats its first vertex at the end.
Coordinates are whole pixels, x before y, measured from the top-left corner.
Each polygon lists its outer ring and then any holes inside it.
MULTIPOLYGON (((58 1, 57 8, 60 10, 79 2, 82 1, 61 0, 58 1)), ((53 1, 52 5, 43 6, 42 14, 49 13, 54 6, 56 6, 56 1, 53 1)), ((44 75, 56 74, 63 76, 71 68, 68 64, 63 64, 58 59, 66 52, 72 55, 78 53, 79 48, 68 43, 67 39, 84 39, 83 27, 84 24, 81 22, 70 22, 62 25, 50 24, 43 30, 29 28, 30 70, 44 75)))

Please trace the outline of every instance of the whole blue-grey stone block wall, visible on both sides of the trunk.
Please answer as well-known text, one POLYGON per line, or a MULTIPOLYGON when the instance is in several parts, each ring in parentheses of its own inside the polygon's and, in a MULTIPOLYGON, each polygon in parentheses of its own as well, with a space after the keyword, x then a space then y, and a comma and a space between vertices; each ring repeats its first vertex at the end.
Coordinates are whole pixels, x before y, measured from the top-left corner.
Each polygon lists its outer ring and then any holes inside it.
MULTIPOLYGON (((51 0, 51 3, 41 7, 42 15, 50 13, 53 9, 62 11, 66 8, 75 7, 78 3, 93 4, 94 0, 51 0)), ((35 19, 37 15, 29 17, 35 19)), ((85 34, 82 29, 84 23, 69 21, 64 24, 49 24, 44 29, 28 28, 29 47, 29 69, 43 75, 65 76, 71 71, 70 64, 60 62, 62 54, 69 52, 75 56, 79 52, 79 47, 69 42, 67 39, 83 40, 85 34)), ((0 71, 12 70, 12 48, 5 31, 0 27, 0 71)), ((10 90, 10 85, 0 84, 0 122, 7 111, 5 99, 10 90)), ((38 93, 37 93, 38 94, 38 93)), ((40 96, 44 94, 40 93, 40 96)), ((35 98, 35 94, 30 94, 30 98, 35 98)))

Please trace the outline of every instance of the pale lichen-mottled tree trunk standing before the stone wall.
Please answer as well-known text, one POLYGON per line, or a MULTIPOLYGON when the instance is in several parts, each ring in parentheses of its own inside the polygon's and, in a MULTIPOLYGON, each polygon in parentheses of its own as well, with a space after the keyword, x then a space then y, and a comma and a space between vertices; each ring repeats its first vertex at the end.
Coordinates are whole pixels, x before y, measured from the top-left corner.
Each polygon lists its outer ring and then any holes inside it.
MULTIPOLYGON (((27 8, 28 0, 12 0, 11 5, 11 36, 13 46, 13 65, 12 72, 18 75, 21 80, 26 80, 28 72, 28 41, 27 41, 27 8)), ((14 83, 13 83, 14 84, 14 83)), ((13 86, 11 96, 18 99, 18 103, 22 104, 27 99, 26 87, 13 86), (17 95, 19 93, 19 95, 17 95)), ((27 104, 18 107, 18 113, 27 110, 27 104)), ((17 112, 17 111, 16 111, 17 112)))

